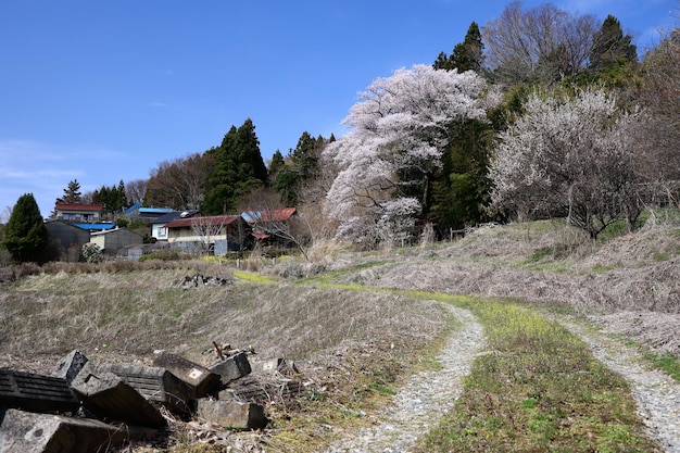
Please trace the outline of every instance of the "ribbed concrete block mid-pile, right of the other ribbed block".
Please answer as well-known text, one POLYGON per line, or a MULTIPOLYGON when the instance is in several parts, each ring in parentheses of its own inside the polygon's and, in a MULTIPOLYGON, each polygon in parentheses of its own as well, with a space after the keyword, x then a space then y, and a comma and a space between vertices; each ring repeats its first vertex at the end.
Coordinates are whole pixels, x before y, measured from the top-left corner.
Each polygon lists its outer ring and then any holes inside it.
POLYGON ((161 403, 175 413, 188 413, 189 401, 196 400, 193 389, 165 368, 101 364, 97 365, 97 369, 113 373, 147 400, 161 403))

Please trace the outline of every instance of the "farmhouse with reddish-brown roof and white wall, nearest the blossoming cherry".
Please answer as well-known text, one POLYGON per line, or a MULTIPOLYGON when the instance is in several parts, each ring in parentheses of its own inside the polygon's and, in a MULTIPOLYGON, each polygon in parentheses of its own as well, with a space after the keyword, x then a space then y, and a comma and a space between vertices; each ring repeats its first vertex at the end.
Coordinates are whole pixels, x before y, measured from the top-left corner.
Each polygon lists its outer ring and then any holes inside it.
POLYGON ((210 255, 241 250, 249 230, 248 224, 239 215, 176 218, 165 227, 171 248, 210 255))

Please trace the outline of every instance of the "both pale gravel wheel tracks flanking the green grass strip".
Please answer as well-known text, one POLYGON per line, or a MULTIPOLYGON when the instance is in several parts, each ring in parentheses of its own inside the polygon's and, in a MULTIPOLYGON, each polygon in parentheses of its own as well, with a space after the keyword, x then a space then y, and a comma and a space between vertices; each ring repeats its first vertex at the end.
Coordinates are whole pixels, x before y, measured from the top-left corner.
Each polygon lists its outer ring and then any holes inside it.
MULTIPOLYGON (((351 433, 326 453, 404 453, 445 414, 462 392, 462 378, 484 344, 482 327, 468 311, 446 305, 463 323, 442 350, 442 369, 414 376, 394 397, 380 424, 351 433)), ((667 453, 680 453, 680 383, 645 367, 641 355, 604 332, 572 319, 558 319, 585 341, 595 358, 620 373, 631 385, 647 435, 667 453)))

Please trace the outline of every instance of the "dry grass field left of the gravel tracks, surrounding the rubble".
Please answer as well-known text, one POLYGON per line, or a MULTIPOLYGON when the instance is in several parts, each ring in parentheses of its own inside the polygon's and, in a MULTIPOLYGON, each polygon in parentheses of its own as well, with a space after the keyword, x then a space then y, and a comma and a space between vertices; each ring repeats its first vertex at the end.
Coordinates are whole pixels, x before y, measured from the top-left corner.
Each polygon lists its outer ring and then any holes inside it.
MULTIPOLYGON (((199 267, 205 275, 231 274, 199 267)), ((389 397, 385 389, 413 372, 450 328, 437 302, 389 293, 264 278, 182 288, 177 282, 199 270, 184 266, 68 269, 0 289, 0 366, 49 373, 73 349, 92 360, 134 364, 149 364, 153 351, 164 349, 210 365, 216 361, 213 341, 252 345, 251 360, 294 361, 316 389, 289 405, 267 407, 273 421, 266 432, 218 435, 230 444, 268 443, 270 451, 312 451, 332 440, 328 432, 318 436, 323 426, 365 423, 356 415, 377 411, 376 401, 389 397)), ((210 429, 178 426, 168 451, 219 451, 194 443, 191 432, 210 429)))

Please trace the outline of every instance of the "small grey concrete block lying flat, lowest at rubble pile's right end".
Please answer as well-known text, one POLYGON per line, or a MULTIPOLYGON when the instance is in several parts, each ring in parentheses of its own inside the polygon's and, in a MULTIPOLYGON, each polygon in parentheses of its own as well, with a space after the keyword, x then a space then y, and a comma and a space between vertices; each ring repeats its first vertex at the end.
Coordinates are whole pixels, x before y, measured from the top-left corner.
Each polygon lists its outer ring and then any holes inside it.
POLYGON ((197 402, 197 416, 230 429, 262 429, 268 421, 260 404, 205 398, 197 402))

